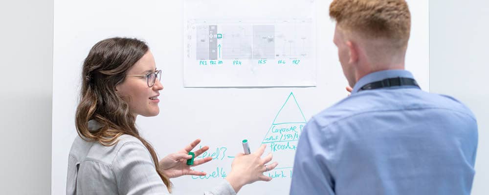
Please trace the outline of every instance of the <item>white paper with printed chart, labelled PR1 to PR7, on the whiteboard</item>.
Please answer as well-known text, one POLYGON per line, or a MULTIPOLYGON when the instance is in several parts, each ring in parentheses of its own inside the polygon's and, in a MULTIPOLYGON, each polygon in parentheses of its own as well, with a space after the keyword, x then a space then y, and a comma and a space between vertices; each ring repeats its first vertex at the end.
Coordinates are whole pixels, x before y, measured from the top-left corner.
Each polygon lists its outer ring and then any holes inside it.
MULTIPOLYGON (((276 3, 287 9, 298 4, 297 1, 276 3)), ((299 4, 312 10, 314 3, 301 1, 299 4)), ((258 8, 212 5, 209 2, 185 6, 188 11, 184 14, 184 87, 316 85, 312 11, 301 9, 299 13, 277 12, 259 17, 233 12, 234 15, 219 17, 216 13, 258 8), (200 11, 206 6, 215 11, 200 11)))

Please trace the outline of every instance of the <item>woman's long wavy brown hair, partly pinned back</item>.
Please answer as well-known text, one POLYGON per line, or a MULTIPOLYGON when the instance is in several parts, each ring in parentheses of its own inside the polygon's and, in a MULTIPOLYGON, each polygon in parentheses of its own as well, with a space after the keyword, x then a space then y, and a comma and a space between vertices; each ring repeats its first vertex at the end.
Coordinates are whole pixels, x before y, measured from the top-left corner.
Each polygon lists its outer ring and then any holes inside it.
POLYGON ((83 63, 81 99, 76 109, 76 130, 87 141, 105 146, 117 143, 118 137, 131 135, 148 149, 155 162, 156 172, 171 193, 170 179, 159 169, 158 157, 148 141, 139 136, 135 117, 129 106, 116 94, 115 86, 122 83, 129 69, 148 52, 148 45, 138 39, 111 38, 96 43, 83 63), (89 130, 89 120, 101 128, 89 130))

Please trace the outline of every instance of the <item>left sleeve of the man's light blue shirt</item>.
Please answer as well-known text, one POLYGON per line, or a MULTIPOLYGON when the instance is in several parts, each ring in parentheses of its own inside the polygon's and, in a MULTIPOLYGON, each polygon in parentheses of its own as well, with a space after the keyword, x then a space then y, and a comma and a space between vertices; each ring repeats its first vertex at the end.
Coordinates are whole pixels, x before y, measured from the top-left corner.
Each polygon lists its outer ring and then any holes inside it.
POLYGON ((304 127, 295 154, 290 195, 334 195, 334 180, 328 167, 325 135, 314 118, 304 127))

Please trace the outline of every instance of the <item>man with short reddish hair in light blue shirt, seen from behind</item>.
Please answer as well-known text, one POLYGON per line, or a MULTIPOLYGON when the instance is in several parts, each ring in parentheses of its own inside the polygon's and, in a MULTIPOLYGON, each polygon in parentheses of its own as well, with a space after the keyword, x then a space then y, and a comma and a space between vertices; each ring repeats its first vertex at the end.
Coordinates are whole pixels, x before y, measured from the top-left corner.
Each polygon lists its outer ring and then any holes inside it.
POLYGON ((333 0, 333 42, 351 96, 300 137, 291 195, 468 195, 477 123, 454 98, 422 91, 404 70, 404 0, 333 0))

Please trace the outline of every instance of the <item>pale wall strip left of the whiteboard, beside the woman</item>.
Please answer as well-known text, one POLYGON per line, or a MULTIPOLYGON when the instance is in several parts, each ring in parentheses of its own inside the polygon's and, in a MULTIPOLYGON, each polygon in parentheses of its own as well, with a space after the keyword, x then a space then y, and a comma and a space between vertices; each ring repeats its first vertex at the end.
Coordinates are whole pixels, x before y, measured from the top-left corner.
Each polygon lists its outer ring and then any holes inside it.
POLYGON ((0 194, 48 195, 53 0, 2 0, 0 24, 0 194))

